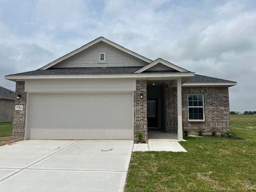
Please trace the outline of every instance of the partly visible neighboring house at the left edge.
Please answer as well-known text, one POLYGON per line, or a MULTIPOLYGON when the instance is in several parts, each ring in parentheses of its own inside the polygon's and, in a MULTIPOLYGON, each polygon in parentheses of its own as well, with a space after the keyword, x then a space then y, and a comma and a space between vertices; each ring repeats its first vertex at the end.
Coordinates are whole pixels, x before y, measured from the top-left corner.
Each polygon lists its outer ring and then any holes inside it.
POLYGON ((15 92, 0 86, 0 122, 12 122, 15 92))

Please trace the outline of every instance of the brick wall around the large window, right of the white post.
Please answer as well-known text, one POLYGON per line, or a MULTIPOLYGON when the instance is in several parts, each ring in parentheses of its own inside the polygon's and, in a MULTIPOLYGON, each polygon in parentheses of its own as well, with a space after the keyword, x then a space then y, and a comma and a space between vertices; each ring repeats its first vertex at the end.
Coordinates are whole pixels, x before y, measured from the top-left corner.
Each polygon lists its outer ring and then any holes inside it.
POLYGON ((203 129, 205 133, 210 133, 212 129, 217 132, 230 130, 228 87, 183 87, 182 122, 183 130, 187 129, 191 132, 196 132, 198 129, 203 129), (188 121, 189 93, 204 94, 204 122, 188 121))

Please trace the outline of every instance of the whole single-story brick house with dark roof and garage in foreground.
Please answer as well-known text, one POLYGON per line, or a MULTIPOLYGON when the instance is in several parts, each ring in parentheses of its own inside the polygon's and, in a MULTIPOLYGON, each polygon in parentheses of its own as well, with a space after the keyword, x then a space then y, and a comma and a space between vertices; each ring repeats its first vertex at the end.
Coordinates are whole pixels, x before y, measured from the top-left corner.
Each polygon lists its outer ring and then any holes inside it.
MULTIPOLYGON (((164 49, 164 47, 163 47, 164 49)), ((13 135, 25 139, 147 138, 148 129, 230 129, 228 87, 104 37, 46 66, 5 76, 16 82, 13 135)))

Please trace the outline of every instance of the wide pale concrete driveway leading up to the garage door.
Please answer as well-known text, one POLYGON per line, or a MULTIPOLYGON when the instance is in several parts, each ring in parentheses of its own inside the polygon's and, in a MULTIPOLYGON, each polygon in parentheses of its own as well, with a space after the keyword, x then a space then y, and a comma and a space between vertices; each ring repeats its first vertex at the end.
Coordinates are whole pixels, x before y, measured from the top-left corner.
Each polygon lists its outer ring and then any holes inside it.
POLYGON ((0 191, 123 191, 131 140, 26 140, 0 147, 0 191))

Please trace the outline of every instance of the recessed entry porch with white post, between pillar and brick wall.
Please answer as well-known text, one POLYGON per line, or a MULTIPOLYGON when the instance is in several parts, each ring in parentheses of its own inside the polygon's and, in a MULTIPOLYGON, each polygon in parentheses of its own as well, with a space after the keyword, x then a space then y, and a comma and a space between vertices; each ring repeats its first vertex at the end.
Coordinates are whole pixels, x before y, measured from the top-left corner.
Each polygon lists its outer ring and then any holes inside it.
POLYGON ((182 141, 181 78, 147 81, 148 140, 182 141))

